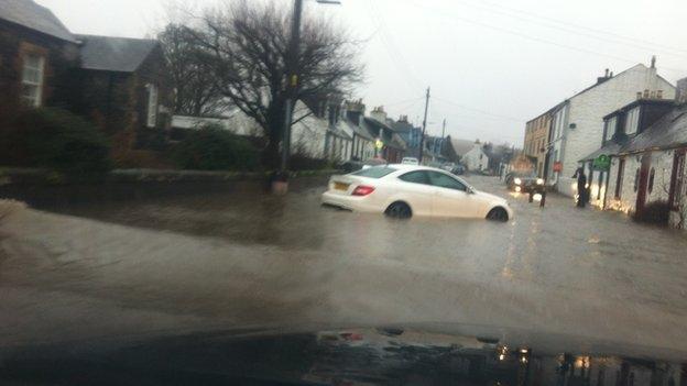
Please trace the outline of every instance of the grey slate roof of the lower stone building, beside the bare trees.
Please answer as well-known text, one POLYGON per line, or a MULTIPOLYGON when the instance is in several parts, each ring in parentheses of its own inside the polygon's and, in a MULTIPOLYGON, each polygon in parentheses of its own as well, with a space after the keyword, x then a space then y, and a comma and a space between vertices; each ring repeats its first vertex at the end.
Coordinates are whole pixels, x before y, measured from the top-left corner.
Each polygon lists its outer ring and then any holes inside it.
POLYGON ((77 35, 83 42, 81 68, 133 73, 159 44, 146 38, 77 35))

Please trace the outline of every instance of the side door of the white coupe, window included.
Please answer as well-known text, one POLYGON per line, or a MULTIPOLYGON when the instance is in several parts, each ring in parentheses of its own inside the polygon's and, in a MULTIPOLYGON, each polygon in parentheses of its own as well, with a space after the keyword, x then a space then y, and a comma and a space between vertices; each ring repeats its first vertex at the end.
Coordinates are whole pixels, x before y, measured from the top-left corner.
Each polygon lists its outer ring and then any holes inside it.
POLYGON ((477 208, 468 188, 456 178, 440 172, 427 172, 429 183, 436 188, 434 214, 441 217, 475 217, 477 208))

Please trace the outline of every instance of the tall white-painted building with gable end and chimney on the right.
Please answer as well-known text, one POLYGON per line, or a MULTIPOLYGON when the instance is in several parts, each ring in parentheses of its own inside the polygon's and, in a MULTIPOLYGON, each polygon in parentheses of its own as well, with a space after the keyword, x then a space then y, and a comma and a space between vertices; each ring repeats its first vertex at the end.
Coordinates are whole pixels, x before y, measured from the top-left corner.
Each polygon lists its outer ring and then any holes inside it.
POLYGON ((603 135, 603 117, 629 104, 637 92, 651 90, 663 98, 675 97, 675 87, 656 74, 655 66, 637 64, 615 76, 598 79, 597 84, 570 97, 553 110, 549 142, 548 181, 566 196, 575 196, 572 177, 579 161, 599 148, 603 135), (560 172, 554 172, 558 163, 560 172))

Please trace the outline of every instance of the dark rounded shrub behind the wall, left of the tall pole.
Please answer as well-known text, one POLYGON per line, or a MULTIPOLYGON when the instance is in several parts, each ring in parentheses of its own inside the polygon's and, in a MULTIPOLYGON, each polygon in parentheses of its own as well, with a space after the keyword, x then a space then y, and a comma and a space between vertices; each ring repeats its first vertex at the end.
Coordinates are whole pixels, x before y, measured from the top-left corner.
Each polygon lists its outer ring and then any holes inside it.
POLYGON ((258 152, 246 139, 212 124, 190 133, 172 157, 178 167, 196 170, 251 170, 259 164, 258 152))

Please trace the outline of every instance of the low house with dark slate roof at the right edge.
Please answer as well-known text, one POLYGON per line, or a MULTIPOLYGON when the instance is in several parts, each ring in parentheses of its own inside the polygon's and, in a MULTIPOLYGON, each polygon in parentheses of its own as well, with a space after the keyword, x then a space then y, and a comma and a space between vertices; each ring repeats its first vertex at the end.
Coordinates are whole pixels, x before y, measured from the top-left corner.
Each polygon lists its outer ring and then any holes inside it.
POLYGON ((686 228, 687 79, 677 88, 674 100, 637 93, 637 100, 604 118, 602 146, 582 159, 591 176, 592 203, 658 214, 675 228, 686 228), (608 170, 595 169, 600 155, 611 158, 608 170))

